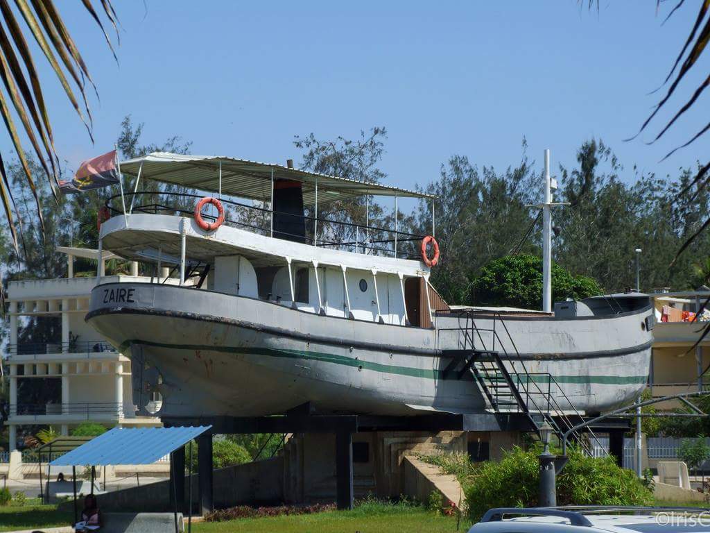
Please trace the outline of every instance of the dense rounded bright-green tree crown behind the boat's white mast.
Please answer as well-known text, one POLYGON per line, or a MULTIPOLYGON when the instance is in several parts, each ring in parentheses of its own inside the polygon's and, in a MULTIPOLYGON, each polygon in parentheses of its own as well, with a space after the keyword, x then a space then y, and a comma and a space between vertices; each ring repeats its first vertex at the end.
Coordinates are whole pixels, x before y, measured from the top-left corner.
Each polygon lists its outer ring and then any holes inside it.
MULTIPOLYGON (((573 276, 552 264, 552 299, 581 300, 601 294, 599 284, 586 276, 573 276)), ((466 303, 488 306, 542 306, 542 259, 530 254, 507 255, 481 269, 469 288, 466 303)))

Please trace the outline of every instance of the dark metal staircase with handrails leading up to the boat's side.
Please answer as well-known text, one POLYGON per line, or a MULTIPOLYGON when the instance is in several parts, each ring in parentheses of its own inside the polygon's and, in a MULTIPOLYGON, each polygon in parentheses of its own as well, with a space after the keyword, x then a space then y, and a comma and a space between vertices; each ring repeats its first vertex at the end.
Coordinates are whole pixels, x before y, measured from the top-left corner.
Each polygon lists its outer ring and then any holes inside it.
MULTIPOLYGON (((501 313, 468 308, 438 311, 437 314, 458 318, 457 328, 438 328, 439 332, 457 331, 459 338, 459 348, 442 350, 443 357, 450 359, 443 371, 444 379, 467 379, 470 375, 491 411, 524 416, 530 430, 538 435, 545 421, 559 438, 572 429, 575 421, 570 416, 581 412, 554 376, 547 372, 528 372, 501 313), (481 327, 476 318, 485 319, 491 327, 481 327)), ((589 433, 596 439, 591 431, 589 433)), ((573 433, 572 438, 591 454, 581 434, 573 433)))

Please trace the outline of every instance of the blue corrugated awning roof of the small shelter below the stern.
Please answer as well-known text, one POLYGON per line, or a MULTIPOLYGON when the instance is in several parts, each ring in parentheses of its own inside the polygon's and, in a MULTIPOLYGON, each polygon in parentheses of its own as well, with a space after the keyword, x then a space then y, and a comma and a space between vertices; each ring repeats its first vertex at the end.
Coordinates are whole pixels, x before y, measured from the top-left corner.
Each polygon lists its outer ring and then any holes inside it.
POLYGON ((56 458, 50 466, 149 465, 210 428, 114 428, 56 458))

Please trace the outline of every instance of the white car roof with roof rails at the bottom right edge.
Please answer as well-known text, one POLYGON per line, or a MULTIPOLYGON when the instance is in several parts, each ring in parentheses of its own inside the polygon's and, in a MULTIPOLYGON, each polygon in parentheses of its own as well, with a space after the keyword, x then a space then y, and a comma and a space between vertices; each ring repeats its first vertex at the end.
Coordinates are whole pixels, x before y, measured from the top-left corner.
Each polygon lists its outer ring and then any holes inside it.
POLYGON ((701 507, 503 507, 469 533, 710 533, 701 507))

